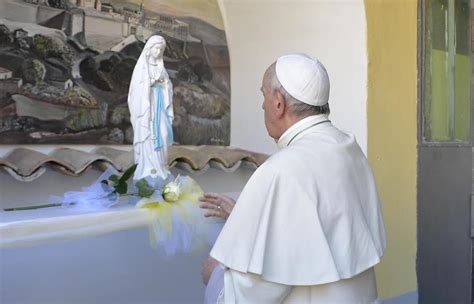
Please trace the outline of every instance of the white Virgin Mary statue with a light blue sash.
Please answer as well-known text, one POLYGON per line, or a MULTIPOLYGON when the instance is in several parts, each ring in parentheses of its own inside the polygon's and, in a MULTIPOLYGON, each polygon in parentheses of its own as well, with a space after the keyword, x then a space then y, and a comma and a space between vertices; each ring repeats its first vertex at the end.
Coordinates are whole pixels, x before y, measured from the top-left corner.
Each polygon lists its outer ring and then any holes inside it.
POLYGON ((170 174, 167 152, 173 144, 173 86, 163 64, 165 47, 163 37, 150 37, 132 74, 128 108, 137 164, 134 180, 165 180, 170 174))

